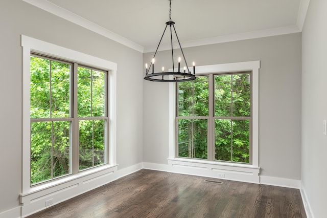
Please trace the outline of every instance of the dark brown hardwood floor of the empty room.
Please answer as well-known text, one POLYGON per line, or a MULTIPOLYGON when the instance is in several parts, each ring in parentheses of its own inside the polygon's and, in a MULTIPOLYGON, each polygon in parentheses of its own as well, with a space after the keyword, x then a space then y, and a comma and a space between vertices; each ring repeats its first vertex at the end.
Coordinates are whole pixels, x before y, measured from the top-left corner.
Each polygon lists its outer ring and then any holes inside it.
POLYGON ((298 189, 142 169, 29 217, 307 216, 298 189))

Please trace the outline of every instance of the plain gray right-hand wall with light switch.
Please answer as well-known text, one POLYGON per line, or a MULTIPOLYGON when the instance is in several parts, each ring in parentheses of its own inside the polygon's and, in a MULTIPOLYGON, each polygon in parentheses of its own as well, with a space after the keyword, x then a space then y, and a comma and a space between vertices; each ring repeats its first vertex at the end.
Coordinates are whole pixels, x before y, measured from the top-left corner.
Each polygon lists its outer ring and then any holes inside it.
POLYGON ((327 1, 311 0, 302 31, 302 183, 315 217, 326 217, 327 1))

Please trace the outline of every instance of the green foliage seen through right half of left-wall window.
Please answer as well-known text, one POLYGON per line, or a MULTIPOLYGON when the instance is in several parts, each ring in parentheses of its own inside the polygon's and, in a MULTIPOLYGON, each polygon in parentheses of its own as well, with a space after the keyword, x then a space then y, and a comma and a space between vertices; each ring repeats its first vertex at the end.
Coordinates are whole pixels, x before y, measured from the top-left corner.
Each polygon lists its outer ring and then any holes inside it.
POLYGON ((78 68, 79 169, 104 163, 105 121, 82 117, 105 116, 105 74, 78 68))

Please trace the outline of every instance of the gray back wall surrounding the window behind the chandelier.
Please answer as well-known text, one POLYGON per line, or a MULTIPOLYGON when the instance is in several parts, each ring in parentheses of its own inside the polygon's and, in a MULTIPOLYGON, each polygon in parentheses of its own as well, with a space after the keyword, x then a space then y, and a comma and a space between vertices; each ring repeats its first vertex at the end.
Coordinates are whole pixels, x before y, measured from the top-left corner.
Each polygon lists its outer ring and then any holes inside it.
MULTIPOLYGON (((261 60, 259 164, 262 176, 301 179, 301 33, 183 49, 197 66, 261 60)), ((153 53, 144 54, 151 62, 153 53)), ((178 57, 178 55, 176 55, 178 57)), ((156 66, 172 68, 171 51, 156 66)), ((144 162, 167 164, 168 83, 144 81, 144 162)))

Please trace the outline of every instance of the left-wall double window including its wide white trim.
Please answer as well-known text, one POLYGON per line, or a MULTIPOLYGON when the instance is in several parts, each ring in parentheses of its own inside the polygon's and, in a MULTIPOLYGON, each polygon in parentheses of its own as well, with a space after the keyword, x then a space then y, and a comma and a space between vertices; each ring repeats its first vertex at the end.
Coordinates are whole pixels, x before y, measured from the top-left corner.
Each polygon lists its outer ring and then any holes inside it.
POLYGON ((20 202, 39 204, 44 195, 64 200, 69 194, 63 190, 77 195, 104 184, 118 168, 117 64, 25 35, 21 47, 20 202))

